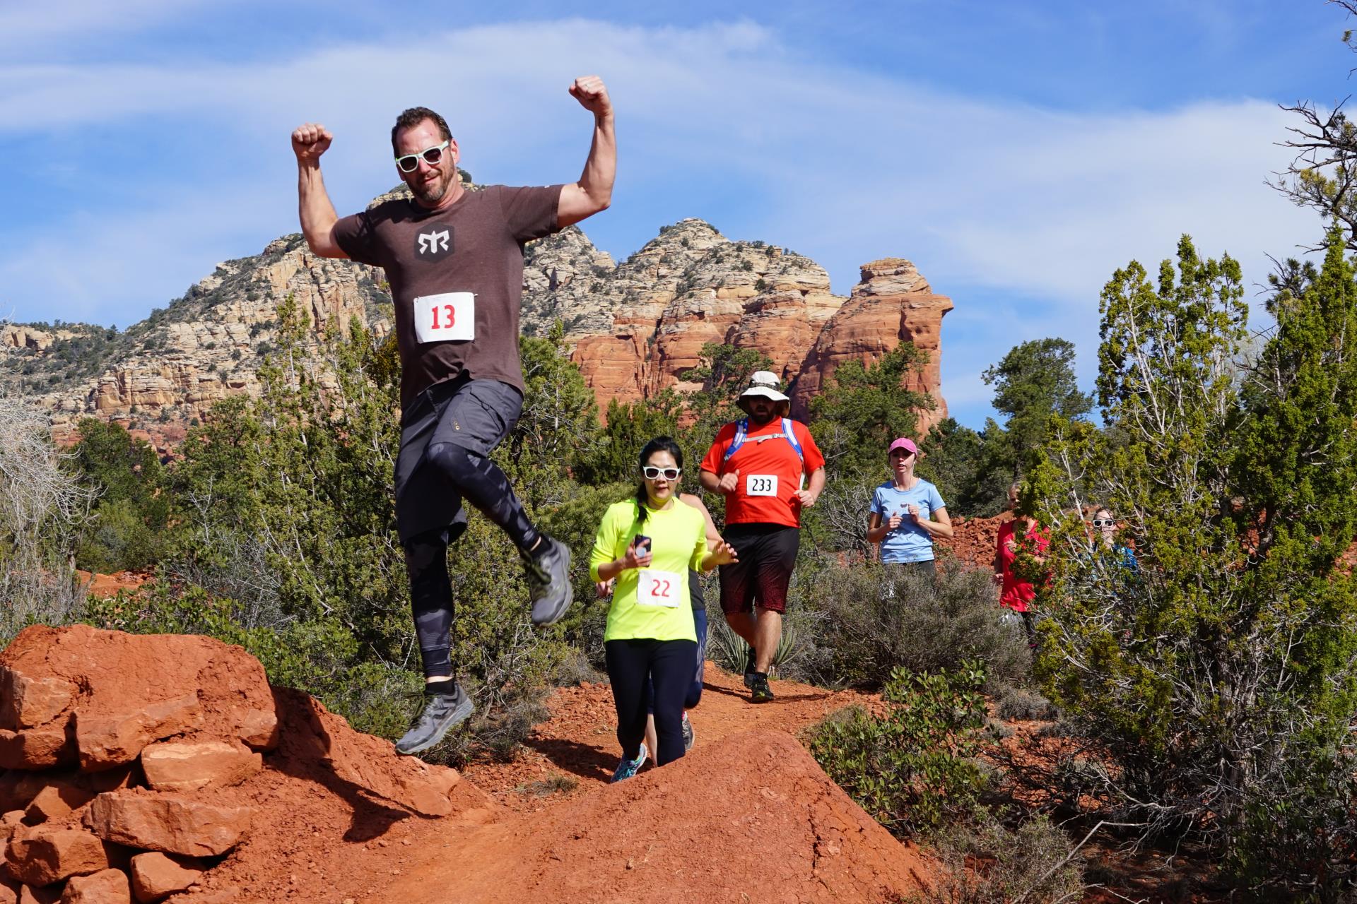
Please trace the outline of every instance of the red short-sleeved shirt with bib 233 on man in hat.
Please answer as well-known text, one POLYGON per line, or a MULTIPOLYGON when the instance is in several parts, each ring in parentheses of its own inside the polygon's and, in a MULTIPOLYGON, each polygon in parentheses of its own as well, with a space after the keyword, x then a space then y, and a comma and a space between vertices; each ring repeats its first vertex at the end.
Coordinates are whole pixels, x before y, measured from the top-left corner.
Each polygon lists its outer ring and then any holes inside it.
POLYGON ((726 450, 735 439, 735 424, 729 423, 716 434, 716 442, 702 459, 702 469, 718 477, 740 472, 735 492, 726 496, 727 525, 801 527, 801 500, 797 497, 801 476, 824 468, 825 457, 803 423, 794 420, 791 428, 806 457, 805 465, 782 432, 782 417, 773 417, 763 427, 749 424, 744 445, 729 461, 725 461, 726 450))

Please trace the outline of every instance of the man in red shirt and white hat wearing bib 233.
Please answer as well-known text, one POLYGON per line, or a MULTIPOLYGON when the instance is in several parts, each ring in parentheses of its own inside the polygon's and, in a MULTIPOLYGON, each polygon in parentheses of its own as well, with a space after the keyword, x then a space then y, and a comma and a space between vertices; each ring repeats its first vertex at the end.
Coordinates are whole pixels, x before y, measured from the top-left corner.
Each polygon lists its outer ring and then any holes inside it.
POLYGON ((748 417, 721 428, 699 481, 726 496, 725 538, 740 561, 721 567, 721 610, 754 649, 745 684, 753 702, 764 703, 772 699, 768 667, 782 641, 801 510, 814 506, 825 487, 825 457, 806 426, 787 416, 790 401, 775 374, 756 373, 737 404, 748 417))

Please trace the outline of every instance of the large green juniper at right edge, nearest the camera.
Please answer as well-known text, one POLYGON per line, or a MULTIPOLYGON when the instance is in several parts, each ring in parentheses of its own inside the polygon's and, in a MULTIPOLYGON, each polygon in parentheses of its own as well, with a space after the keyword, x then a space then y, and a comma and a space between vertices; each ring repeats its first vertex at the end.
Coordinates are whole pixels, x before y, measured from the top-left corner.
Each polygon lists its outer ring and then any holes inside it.
POLYGON ((1107 430, 1052 417, 1030 480, 1053 530, 1038 672, 1106 763, 1086 777, 1144 834, 1200 832, 1240 874, 1295 809, 1299 764, 1334 775, 1357 712, 1357 585, 1335 568, 1357 529, 1357 286, 1331 236, 1253 361, 1243 291, 1187 237, 1158 282, 1117 271, 1107 430), (1086 531, 1092 504, 1125 523, 1137 572, 1086 531))

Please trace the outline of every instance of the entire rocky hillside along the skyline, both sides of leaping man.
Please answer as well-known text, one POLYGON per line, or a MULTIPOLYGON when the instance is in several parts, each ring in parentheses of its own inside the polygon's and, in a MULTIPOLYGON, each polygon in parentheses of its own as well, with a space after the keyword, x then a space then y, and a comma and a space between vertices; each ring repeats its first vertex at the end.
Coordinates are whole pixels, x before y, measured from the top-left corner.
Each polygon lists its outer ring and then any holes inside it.
MULTIPOLYGON (((391 195, 383 195, 384 199, 391 195)), ((376 202, 375 202, 376 203, 376 202)), ((391 329, 380 270, 312 255, 300 234, 259 255, 228 260, 180 298, 125 331, 84 324, 0 328, 12 367, 0 373, 35 396, 58 432, 87 415, 118 420, 170 442, 220 398, 258 390, 258 369, 275 340, 275 309, 292 294, 313 337, 327 324, 360 317, 391 329)), ((731 241, 702 220, 664 226, 615 263, 578 228, 533 243, 524 272, 522 329, 546 333, 558 320, 586 382, 598 396, 634 401, 666 386, 693 389, 683 374, 704 343, 759 348, 788 382, 797 409, 843 361, 874 361, 902 339, 931 354, 921 389, 939 396, 942 317, 951 301, 934 294, 906 260, 863 267, 844 300, 824 267, 763 241, 731 241)))

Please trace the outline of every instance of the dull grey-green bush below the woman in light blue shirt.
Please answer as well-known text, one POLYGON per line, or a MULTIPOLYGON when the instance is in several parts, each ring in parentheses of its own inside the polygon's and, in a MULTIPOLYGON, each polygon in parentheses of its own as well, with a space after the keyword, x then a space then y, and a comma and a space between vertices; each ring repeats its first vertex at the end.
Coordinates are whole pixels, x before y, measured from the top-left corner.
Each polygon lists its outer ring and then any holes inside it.
POLYGON ((877 564, 830 567, 810 596, 837 682, 883 684, 896 670, 951 670, 968 659, 985 664, 989 693, 1027 675, 1026 638, 1001 618, 984 569, 944 560, 934 580, 877 564))

